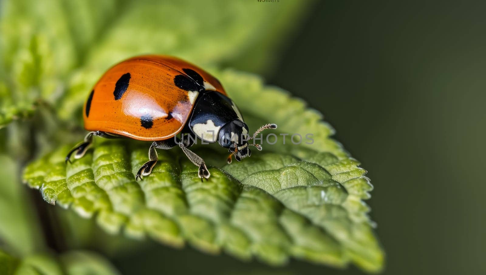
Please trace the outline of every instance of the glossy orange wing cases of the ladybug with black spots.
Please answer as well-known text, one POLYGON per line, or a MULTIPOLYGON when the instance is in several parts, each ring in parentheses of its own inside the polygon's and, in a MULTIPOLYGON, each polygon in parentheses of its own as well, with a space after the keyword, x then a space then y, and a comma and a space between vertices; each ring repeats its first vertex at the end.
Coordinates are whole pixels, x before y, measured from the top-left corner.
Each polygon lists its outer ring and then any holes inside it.
POLYGON ((85 129, 143 141, 174 137, 186 124, 200 92, 226 96, 201 68, 171 56, 127 59, 104 73, 84 106, 85 129))

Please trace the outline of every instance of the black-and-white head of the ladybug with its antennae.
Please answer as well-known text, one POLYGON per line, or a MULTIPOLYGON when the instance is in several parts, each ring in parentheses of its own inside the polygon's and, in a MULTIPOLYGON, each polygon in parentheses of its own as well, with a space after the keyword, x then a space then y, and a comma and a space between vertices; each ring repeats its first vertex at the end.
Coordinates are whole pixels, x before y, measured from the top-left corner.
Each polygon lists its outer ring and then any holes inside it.
POLYGON ((228 163, 231 163, 231 157, 234 155, 237 161, 251 156, 251 150, 249 145, 257 147, 261 150, 259 144, 249 143, 248 141, 253 139, 258 133, 264 129, 276 129, 275 124, 266 124, 260 127, 253 136, 248 138, 248 126, 241 120, 235 119, 228 122, 219 131, 218 142, 221 146, 228 148, 231 153, 227 159, 228 163))

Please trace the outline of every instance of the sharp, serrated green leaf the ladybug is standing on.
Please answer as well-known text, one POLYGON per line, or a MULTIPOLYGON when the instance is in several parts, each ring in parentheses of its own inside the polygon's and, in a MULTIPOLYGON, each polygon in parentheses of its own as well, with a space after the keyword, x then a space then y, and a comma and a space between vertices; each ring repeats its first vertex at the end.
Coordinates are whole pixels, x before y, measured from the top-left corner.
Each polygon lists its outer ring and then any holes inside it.
POLYGON ((363 202, 372 186, 359 162, 330 138, 334 130, 322 115, 253 75, 214 73, 250 129, 276 123, 274 133, 312 134, 314 142, 294 145, 287 136, 283 144, 280 137, 231 164, 217 145, 195 147, 211 165, 204 182, 180 150, 159 150, 152 174, 136 182, 148 143, 97 139, 94 150, 72 164, 64 162, 71 145, 32 162, 24 181, 47 202, 95 217, 113 234, 176 247, 188 242, 208 253, 224 250, 275 265, 294 257, 379 271, 383 252, 363 202))

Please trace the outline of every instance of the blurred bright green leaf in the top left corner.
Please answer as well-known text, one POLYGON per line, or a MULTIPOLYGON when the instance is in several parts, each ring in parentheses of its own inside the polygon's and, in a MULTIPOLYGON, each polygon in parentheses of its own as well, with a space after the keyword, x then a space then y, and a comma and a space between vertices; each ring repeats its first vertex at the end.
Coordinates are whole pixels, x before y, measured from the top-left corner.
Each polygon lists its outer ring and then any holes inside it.
POLYGON ((76 65, 68 14, 59 0, 0 2, 0 127, 59 97, 76 65))

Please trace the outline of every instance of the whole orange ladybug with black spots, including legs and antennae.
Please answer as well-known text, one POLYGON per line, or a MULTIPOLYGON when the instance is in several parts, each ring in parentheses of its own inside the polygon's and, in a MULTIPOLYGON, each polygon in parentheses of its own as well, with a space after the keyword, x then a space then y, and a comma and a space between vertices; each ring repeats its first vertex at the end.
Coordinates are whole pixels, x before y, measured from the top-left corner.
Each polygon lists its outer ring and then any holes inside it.
POLYGON ((163 55, 137 56, 114 65, 94 85, 84 105, 84 125, 89 131, 83 142, 66 156, 70 162, 82 158, 93 136, 152 141, 149 161, 140 167, 136 180, 150 175, 158 149, 179 146, 199 167, 198 176, 209 178, 208 167, 191 147, 196 139, 218 142, 237 161, 251 155, 248 143, 264 129, 248 137, 248 126, 221 83, 201 68, 163 55), (180 137, 179 137, 180 136, 180 137))

